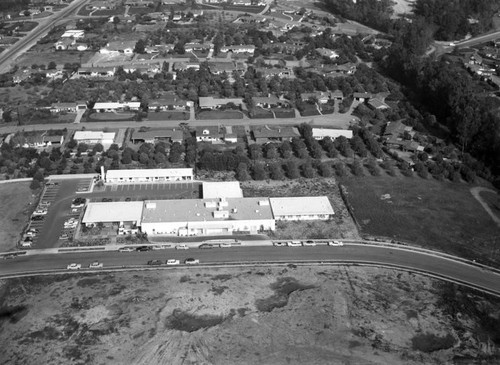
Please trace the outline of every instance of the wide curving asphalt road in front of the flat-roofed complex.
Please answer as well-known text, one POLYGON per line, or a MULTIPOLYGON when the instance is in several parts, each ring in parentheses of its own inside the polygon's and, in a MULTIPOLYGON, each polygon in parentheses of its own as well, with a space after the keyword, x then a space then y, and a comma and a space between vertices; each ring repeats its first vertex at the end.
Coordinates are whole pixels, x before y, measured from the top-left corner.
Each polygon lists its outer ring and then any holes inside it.
POLYGON ((395 265, 410 270, 425 271, 439 277, 469 283, 500 295, 500 275, 480 267, 449 260, 425 253, 402 249, 368 246, 345 245, 343 247, 232 247, 209 250, 158 250, 149 252, 88 252, 47 255, 19 256, 12 260, 3 260, 0 265, 0 276, 14 275, 22 272, 38 272, 43 270, 65 270, 70 263, 80 263, 88 267, 92 261, 104 263, 104 267, 122 267, 145 265, 152 259, 197 258, 201 264, 227 262, 294 262, 294 261, 338 261, 355 263, 378 263, 395 265))

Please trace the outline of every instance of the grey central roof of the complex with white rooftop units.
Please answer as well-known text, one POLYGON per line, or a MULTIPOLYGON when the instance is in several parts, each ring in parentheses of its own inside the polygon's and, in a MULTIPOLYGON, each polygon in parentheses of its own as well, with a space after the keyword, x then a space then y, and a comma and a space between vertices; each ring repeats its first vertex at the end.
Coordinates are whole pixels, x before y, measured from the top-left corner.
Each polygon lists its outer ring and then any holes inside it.
POLYGON ((269 198, 147 200, 142 223, 273 219, 269 198))

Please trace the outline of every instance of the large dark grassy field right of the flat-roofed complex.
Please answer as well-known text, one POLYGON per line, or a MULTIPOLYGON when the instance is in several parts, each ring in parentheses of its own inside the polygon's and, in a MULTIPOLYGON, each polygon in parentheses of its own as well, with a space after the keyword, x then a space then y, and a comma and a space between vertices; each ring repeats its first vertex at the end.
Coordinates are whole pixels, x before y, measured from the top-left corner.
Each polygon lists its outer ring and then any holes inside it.
POLYGON ((362 234, 500 266, 500 230, 469 185, 389 176, 349 177, 341 183, 362 234))

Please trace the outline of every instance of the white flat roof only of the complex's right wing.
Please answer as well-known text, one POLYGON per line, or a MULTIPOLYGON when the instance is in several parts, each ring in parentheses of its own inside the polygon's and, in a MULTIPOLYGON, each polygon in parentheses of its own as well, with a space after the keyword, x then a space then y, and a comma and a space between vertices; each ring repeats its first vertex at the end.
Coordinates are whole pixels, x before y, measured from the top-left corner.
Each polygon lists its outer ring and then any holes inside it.
POLYGON ((274 217, 283 215, 334 214, 326 196, 269 198, 274 217))

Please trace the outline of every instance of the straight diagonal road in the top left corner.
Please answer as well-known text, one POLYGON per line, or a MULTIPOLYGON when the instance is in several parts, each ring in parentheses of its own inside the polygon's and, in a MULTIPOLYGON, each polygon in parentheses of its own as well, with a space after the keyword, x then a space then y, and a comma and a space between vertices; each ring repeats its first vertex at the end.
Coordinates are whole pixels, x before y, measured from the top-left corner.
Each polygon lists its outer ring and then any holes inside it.
POLYGON ((71 12, 79 9, 80 6, 89 0, 74 0, 66 8, 54 13, 48 18, 38 19, 38 26, 33 29, 28 35, 20 39, 12 47, 5 50, 0 55, 0 73, 6 72, 10 68, 10 63, 16 59, 21 53, 32 47, 41 37, 43 37, 49 29, 54 26, 59 20, 67 17, 71 12))

